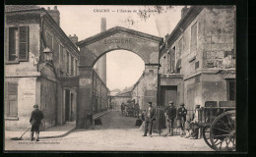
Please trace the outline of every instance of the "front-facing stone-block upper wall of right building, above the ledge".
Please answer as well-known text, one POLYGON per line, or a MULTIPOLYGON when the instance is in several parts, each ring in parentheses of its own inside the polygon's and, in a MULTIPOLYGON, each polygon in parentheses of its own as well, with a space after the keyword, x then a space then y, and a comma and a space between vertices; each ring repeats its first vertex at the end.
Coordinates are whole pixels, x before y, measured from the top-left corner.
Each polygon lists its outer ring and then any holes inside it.
POLYGON ((204 69, 235 68, 234 11, 234 8, 204 10, 205 29, 202 38, 204 69))

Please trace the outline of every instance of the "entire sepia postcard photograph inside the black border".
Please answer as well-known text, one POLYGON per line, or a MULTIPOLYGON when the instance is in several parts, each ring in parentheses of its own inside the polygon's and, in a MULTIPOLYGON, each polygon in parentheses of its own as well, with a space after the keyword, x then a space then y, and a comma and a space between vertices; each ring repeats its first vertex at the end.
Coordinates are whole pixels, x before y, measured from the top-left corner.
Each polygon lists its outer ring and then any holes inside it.
POLYGON ((235 5, 5 5, 5 151, 236 151, 235 5))

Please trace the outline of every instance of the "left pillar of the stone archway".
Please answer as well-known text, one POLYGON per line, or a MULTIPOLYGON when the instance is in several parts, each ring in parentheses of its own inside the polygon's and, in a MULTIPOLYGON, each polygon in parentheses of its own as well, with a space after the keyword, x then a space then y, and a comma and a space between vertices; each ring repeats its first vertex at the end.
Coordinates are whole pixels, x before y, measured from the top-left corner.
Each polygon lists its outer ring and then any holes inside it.
POLYGON ((90 111, 93 98, 93 68, 91 66, 79 66, 79 92, 77 107, 77 129, 87 127, 87 115, 90 111))

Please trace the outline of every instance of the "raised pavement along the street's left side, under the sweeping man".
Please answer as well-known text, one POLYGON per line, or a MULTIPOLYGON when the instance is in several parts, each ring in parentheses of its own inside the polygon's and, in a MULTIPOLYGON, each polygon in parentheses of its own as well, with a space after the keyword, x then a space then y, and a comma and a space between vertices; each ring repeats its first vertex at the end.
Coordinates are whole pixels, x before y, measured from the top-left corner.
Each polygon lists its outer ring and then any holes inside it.
MULTIPOLYGON (((96 118, 99 118, 105 114, 108 114, 109 112, 111 112, 111 110, 96 113, 93 116, 93 119, 95 120, 96 118)), ((63 126, 55 126, 55 127, 46 129, 44 131, 40 131, 40 139, 64 137, 75 130, 76 130, 76 122, 66 122, 66 124, 63 126)), ((25 131, 5 131, 5 138, 11 139, 13 137, 21 137, 21 135, 24 132, 25 131)), ((30 131, 27 131, 23 135, 22 139, 30 140, 30 131)))

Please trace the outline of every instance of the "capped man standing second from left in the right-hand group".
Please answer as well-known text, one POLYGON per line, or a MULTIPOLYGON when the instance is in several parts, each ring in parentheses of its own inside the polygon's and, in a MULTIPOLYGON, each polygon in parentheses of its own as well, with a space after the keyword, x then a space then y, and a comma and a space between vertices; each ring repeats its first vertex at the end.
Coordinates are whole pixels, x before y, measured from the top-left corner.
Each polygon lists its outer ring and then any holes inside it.
POLYGON ((166 116, 166 128, 168 136, 173 135, 173 122, 176 117, 176 108, 173 106, 173 102, 168 102, 169 106, 165 109, 165 116, 166 116))

